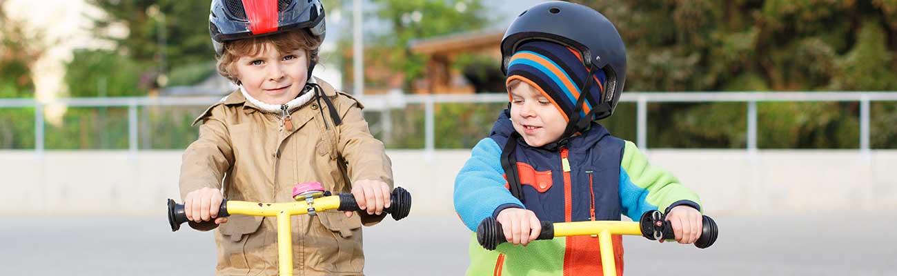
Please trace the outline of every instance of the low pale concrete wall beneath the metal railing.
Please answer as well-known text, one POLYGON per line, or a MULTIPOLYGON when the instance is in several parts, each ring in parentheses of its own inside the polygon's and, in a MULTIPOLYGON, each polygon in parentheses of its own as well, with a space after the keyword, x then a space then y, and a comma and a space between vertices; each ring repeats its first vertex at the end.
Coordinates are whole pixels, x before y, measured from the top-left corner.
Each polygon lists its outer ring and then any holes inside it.
MULTIPOLYGON (((0 213, 164 216, 181 151, 0 151, 0 213)), ((453 215, 469 151, 389 151, 414 214, 453 215)), ((897 151, 651 150, 712 214, 897 210, 897 151)), ((161 219, 163 220, 163 219, 161 219)))

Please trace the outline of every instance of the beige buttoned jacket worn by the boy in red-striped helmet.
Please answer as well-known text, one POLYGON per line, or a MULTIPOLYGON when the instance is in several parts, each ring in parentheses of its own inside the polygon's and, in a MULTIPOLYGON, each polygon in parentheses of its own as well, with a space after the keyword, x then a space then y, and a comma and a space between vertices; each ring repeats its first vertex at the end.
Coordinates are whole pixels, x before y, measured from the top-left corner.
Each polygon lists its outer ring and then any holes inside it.
MULTIPOLYGON (((255 107, 240 91, 208 108, 194 122, 202 121, 199 139, 184 152, 182 199, 222 184, 224 198, 262 203, 292 202, 292 186, 309 181, 334 193, 348 193, 351 180, 392 186, 390 160, 371 136, 361 103, 317 81, 342 125, 334 126, 325 101, 317 99, 292 110, 292 131, 282 127, 280 114, 255 107)), ((346 218, 342 211, 293 216, 294 275, 360 275, 362 221, 372 225, 384 217, 346 218)), ((277 275, 276 218, 233 215, 215 231, 215 242, 217 275, 277 275)))

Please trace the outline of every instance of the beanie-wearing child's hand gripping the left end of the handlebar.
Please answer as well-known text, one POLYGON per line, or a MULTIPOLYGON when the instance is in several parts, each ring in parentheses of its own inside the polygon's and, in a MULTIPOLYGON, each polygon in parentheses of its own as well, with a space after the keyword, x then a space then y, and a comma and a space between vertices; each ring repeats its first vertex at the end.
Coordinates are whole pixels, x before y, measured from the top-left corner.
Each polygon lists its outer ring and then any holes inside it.
POLYGON ((542 223, 536 217, 536 213, 526 209, 508 208, 499 212, 498 218, 501 229, 509 243, 527 246, 530 241, 536 240, 542 232, 542 223))

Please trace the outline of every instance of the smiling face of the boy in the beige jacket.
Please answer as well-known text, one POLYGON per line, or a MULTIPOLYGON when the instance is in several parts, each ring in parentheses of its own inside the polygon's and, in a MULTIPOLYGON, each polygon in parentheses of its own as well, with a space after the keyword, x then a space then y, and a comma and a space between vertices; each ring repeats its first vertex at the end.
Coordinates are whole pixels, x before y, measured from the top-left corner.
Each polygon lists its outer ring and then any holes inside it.
POLYGON ((283 105, 296 99, 305 87, 309 59, 304 50, 279 53, 266 44, 256 56, 240 56, 236 68, 249 96, 266 104, 283 105))

